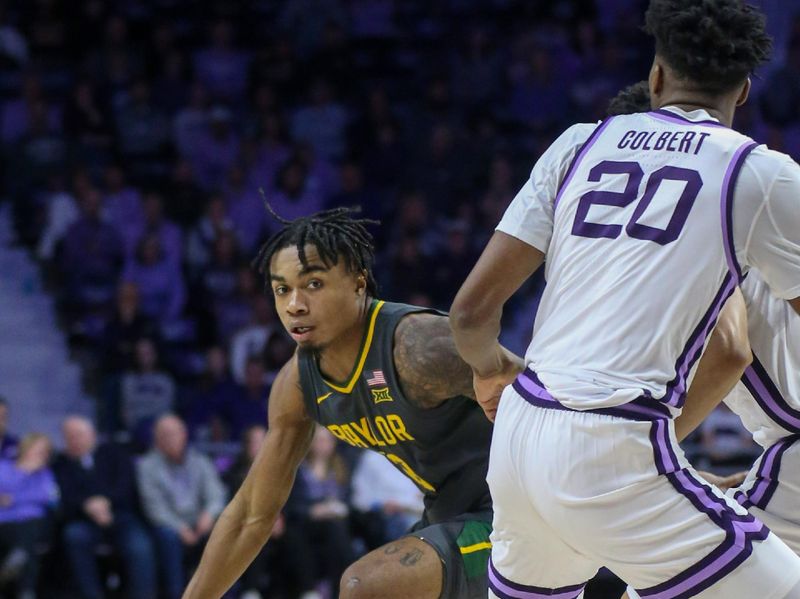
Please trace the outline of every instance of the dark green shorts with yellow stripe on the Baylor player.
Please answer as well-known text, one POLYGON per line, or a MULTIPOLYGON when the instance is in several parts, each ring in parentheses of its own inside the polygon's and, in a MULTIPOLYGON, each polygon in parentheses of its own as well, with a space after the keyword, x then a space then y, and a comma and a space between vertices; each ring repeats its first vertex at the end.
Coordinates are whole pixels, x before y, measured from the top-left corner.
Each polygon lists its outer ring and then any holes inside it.
POLYGON ((486 599, 491 532, 492 512, 464 514, 457 520, 438 524, 420 522, 411 529, 409 536, 425 541, 442 560, 444 581, 440 599, 486 599))

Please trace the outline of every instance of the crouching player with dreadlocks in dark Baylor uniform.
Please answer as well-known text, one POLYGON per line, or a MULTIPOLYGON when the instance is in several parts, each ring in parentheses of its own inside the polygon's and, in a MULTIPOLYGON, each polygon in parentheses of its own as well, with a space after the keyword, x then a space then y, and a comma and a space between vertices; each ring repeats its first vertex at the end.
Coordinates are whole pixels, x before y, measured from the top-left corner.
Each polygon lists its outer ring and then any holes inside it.
MULTIPOLYGON (((264 445, 184 599, 220 597, 261 549, 315 422, 382 453, 425 497, 423 520, 351 565, 340 597, 484 599, 493 410, 474 399, 447 317, 378 300, 371 221, 339 208, 282 222, 256 261, 297 351, 272 386, 264 445)), ((522 361, 508 357, 513 376, 522 361)))

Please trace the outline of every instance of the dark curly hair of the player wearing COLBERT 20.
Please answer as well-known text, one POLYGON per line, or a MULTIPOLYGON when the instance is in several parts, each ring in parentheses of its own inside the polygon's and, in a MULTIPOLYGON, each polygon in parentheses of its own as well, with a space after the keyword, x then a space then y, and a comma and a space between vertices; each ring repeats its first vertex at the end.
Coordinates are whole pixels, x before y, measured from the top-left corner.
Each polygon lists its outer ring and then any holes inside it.
POLYGON ((772 50, 764 15, 741 0, 651 0, 644 29, 656 54, 708 93, 741 84, 772 50))

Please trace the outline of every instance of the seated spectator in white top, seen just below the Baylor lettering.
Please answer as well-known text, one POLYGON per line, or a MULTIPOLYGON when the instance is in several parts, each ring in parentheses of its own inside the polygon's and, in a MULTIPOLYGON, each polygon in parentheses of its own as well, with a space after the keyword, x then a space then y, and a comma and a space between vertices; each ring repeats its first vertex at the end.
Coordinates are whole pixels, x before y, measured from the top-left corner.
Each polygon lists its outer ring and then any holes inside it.
POLYGON ((389 460, 363 451, 353 471, 353 522, 367 549, 405 534, 422 516, 422 493, 389 460))

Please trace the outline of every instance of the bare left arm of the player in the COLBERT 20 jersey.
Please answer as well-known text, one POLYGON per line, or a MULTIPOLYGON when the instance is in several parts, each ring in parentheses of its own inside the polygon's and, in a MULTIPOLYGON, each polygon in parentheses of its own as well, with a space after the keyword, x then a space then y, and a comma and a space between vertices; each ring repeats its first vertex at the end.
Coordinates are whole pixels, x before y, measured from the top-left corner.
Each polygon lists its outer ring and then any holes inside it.
POLYGON ((482 405, 496 402, 499 390, 519 372, 519 362, 497 340, 500 318, 505 303, 542 262, 540 250, 495 232, 453 302, 453 339, 475 373, 476 395, 482 405))

